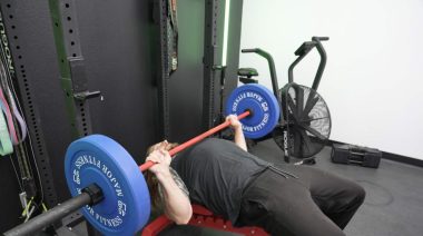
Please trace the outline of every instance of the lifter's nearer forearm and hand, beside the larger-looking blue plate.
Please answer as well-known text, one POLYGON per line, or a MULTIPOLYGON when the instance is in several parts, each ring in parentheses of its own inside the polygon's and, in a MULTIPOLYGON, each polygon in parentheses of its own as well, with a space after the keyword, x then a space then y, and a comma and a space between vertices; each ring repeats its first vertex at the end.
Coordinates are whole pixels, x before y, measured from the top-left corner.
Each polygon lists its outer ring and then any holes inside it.
POLYGON ((153 151, 146 160, 156 163, 149 168, 161 186, 166 216, 176 224, 187 224, 193 215, 188 196, 175 183, 170 170, 170 156, 166 150, 153 151))

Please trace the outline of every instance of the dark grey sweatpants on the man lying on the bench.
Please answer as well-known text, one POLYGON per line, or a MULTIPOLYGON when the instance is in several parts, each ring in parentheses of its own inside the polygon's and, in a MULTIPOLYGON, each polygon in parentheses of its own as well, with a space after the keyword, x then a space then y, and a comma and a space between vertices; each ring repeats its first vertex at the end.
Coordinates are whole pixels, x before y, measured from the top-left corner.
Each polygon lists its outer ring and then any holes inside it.
POLYGON ((342 229, 364 197, 354 181, 314 167, 272 167, 248 184, 236 225, 260 226, 276 236, 345 235, 342 229))

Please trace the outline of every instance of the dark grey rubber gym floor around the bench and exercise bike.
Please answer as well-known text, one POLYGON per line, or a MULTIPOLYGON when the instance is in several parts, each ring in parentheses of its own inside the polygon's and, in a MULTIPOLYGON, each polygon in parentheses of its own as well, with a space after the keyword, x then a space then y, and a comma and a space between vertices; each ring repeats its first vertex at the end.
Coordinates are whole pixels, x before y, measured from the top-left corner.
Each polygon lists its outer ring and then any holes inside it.
MULTIPOLYGON (((382 159, 380 168, 331 163, 331 147, 317 155, 321 168, 360 183, 366 199, 345 228, 348 236, 423 236, 423 168, 382 159)), ((282 150, 273 140, 259 142, 250 153, 268 161, 284 164, 282 150)), ((285 165, 285 164, 284 164, 285 165)), ((82 224, 59 235, 86 235, 82 224)), ((170 226, 169 235, 234 235, 195 226, 170 226)))

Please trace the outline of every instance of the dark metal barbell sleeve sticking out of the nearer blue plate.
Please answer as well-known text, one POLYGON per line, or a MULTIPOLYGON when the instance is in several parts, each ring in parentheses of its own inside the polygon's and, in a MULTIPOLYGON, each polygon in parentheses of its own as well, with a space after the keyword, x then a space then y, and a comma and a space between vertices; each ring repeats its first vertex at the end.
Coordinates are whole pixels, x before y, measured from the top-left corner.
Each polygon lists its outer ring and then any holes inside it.
POLYGON ((69 214, 78 210, 86 205, 96 205, 104 198, 101 189, 96 185, 89 185, 82 189, 82 193, 62 204, 49 209, 48 212, 40 214, 32 219, 18 225, 14 228, 9 229, 4 233, 4 236, 23 236, 33 235, 43 227, 62 219, 69 214))

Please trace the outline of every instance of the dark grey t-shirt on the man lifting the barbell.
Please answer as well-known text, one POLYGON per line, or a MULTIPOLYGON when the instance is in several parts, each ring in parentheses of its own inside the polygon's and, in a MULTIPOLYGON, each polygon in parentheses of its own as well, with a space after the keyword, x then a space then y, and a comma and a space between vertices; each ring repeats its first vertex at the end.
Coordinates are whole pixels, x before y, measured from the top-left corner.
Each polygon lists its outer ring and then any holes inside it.
POLYGON ((209 138, 178 154, 170 165, 187 186, 193 203, 235 224, 244 188, 272 164, 232 141, 209 138))

